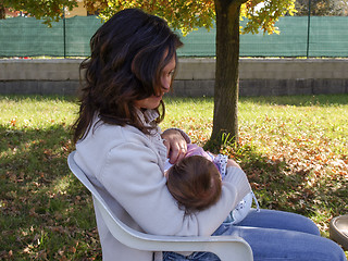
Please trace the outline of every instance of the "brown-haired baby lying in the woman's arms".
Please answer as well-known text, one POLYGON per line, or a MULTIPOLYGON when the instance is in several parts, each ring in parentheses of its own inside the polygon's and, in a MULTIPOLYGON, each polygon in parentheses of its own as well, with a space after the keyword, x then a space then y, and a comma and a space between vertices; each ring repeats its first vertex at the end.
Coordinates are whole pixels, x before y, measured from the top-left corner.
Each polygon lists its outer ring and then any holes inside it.
MULTIPOLYGON (((167 189, 187 214, 204 210, 221 197, 222 181, 227 165, 227 156, 214 157, 199 146, 188 144, 187 153, 182 161, 174 165, 169 161, 165 163, 167 189)), ((251 208, 252 199, 256 200, 253 194, 248 194, 225 222, 237 224, 244 220, 251 208)), ((258 206, 257 200, 256 203, 258 206)))

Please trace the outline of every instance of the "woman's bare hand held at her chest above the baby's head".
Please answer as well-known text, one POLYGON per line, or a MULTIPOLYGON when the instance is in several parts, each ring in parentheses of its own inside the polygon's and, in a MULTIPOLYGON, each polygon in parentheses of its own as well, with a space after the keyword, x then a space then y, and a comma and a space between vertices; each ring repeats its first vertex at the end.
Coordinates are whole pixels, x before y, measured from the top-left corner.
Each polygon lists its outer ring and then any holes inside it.
POLYGON ((166 157, 170 159, 170 163, 175 164, 185 157, 187 142, 177 129, 167 129, 161 136, 166 147, 166 157))

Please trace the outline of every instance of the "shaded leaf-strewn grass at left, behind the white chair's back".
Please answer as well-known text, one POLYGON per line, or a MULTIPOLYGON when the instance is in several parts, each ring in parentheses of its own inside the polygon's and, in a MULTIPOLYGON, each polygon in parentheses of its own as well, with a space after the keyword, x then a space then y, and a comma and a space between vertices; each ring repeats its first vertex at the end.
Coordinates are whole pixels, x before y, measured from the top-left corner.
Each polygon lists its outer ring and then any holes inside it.
POLYGON ((0 259, 101 260, 91 197, 66 164, 69 128, 0 135, 0 259))

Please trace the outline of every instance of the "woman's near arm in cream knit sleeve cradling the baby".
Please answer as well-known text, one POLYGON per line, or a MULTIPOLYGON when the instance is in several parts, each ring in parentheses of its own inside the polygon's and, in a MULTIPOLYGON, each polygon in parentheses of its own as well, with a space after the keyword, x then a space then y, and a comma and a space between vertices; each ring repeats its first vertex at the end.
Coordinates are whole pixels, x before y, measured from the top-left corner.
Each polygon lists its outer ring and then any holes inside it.
POLYGON ((157 153, 136 142, 114 147, 98 179, 142 229, 158 235, 210 235, 243 198, 226 184, 215 206, 186 215, 166 188, 157 153))

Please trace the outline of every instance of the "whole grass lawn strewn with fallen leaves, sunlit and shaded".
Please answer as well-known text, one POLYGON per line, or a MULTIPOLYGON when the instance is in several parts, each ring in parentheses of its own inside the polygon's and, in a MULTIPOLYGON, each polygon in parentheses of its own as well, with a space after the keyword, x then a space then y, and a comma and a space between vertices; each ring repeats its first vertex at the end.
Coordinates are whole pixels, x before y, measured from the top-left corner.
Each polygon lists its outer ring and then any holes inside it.
MULTIPOLYGON (((0 96, 0 259, 101 260, 91 198, 66 165, 75 100, 0 96)), ((347 114, 348 95, 241 98, 239 147, 221 152, 262 208, 304 214, 327 237, 330 220, 348 212, 347 114)), ((212 116, 211 98, 166 99, 161 127, 203 145, 212 116)))

